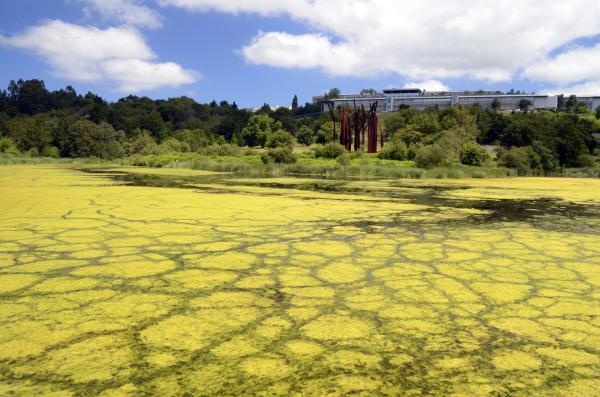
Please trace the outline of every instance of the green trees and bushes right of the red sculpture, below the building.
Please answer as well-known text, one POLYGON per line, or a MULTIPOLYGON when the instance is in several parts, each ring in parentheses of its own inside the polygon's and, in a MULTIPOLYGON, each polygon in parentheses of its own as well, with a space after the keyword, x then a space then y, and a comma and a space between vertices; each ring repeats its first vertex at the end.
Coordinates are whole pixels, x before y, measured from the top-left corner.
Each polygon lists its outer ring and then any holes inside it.
POLYGON ((522 174, 598 166, 600 123, 574 100, 569 99, 572 112, 503 113, 478 106, 402 109, 385 121, 389 144, 380 157, 414 159, 428 168, 483 165, 495 154, 500 165, 522 174))

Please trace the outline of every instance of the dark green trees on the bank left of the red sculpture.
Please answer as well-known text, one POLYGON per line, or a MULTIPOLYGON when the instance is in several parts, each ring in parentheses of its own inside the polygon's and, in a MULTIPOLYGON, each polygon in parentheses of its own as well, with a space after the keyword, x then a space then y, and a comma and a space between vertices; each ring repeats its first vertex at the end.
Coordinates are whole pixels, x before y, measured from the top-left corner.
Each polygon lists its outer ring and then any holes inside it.
MULTIPOLYGON (((0 151, 31 156, 116 158, 164 151, 198 151, 216 143, 265 145, 266 139, 244 133, 251 117, 265 115, 273 127, 295 134, 314 128, 319 106, 258 112, 239 109, 235 102, 200 104, 179 97, 152 100, 128 96, 107 102, 72 87, 49 91, 41 80, 11 81, 0 90, 0 151)), ((250 123, 252 124, 252 123, 250 123)), ((256 124, 256 123, 255 123, 256 124)), ((251 126, 251 125, 250 125, 251 126)), ((260 135, 260 134, 259 134, 260 135)))

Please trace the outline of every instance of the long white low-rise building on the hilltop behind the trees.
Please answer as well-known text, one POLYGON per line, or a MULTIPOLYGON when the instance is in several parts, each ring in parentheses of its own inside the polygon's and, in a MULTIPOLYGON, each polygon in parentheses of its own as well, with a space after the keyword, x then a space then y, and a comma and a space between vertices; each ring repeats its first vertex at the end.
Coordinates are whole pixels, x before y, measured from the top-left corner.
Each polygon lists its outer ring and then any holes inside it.
MULTIPOLYGON (((591 110, 600 106, 600 96, 577 97, 579 102, 585 103, 591 110)), ((321 103, 321 111, 326 111, 325 96, 313 97, 313 103, 321 103)), ((340 95, 329 99, 334 107, 349 106, 369 108, 377 102, 377 108, 382 112, 396 112, 402 107, 409 106, 418 110, 428 107, 440 109, 453 105, 473 106, 479 105, 484 109, 494 106, 500 110, 519 110, 527 104, 528 109, 554 109, 558 107, 558 96, 538 94, 498 94, 490 91, 464 91, 464 92, 426 92, 418 88, 386 89, 382 93, 340 95)))

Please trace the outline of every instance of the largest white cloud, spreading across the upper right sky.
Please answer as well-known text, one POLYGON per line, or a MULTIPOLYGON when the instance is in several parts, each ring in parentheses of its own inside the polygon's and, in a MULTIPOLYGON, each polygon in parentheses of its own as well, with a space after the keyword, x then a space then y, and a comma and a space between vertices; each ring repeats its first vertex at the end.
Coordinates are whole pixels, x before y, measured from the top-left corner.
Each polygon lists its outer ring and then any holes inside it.
POLYGON ((260 33, 248 62, 411 80, 510 81, 553 49, 600 34, 597 0, 157 0, 191 11, 283 15, 312 34, 260 33))

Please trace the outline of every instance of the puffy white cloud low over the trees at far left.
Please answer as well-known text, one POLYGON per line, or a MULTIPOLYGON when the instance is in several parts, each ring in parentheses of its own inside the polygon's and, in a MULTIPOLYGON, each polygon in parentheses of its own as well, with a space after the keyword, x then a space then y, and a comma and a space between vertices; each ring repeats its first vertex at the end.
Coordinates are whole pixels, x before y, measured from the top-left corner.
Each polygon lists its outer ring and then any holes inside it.
POLYGON ((143 36, 127 27, 99 29, 60 20, 46 21, 0 44, 31 51, 63 78, 84 82, 113 82, 123 92, 193 83, 199 75, 157 56, 143 36))

